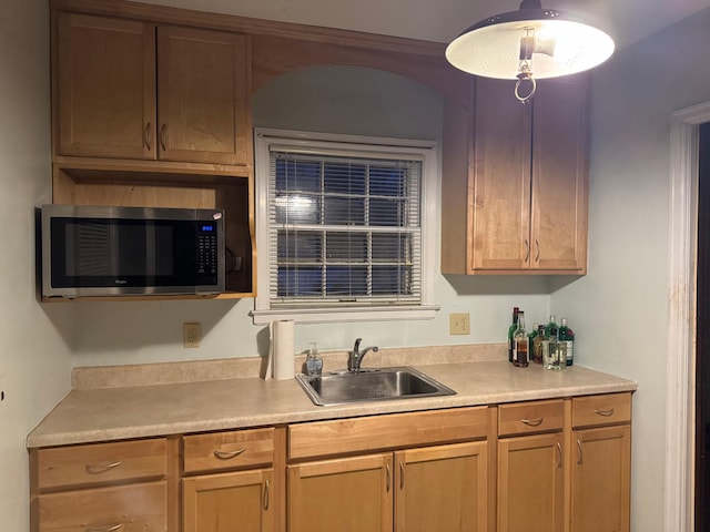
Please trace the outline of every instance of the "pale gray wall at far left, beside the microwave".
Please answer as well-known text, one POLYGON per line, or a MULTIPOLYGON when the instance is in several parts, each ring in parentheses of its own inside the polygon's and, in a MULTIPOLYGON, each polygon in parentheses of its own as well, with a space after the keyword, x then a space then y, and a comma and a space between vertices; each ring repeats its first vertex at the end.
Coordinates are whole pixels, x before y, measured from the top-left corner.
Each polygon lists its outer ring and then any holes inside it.
POLYGON ((33 207, 51 201, 49 8, 0 2, 0 528, 29 530, 27 433, 69 390, 72 308, 34 290, 33 207))

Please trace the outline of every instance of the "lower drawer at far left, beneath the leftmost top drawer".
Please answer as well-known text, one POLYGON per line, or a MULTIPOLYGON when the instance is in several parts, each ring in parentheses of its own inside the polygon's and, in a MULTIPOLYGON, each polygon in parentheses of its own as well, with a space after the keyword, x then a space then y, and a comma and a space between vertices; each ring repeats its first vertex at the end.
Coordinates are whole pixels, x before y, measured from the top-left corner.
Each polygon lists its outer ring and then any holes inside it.
POLYGON ((38 532, 165 531, 165 481, 40 495, 38 532))

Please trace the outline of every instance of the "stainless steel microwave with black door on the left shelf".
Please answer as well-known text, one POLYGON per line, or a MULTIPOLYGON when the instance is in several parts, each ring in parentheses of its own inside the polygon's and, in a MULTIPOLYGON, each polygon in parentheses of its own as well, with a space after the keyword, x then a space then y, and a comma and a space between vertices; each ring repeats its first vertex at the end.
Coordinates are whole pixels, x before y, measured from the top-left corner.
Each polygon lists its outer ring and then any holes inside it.
POLYGON ((220 209, 43 205, 42 296, 219 294, 220 209))

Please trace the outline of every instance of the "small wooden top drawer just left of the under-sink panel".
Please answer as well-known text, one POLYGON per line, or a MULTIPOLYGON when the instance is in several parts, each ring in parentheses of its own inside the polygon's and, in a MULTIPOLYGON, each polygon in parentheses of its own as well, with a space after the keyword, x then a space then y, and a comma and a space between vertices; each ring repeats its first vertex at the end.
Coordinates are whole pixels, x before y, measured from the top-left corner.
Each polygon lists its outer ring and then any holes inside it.
POLYGON ((273 428, 192 434, 182 441, 185 473, 268 466, 274 461, 273 428))

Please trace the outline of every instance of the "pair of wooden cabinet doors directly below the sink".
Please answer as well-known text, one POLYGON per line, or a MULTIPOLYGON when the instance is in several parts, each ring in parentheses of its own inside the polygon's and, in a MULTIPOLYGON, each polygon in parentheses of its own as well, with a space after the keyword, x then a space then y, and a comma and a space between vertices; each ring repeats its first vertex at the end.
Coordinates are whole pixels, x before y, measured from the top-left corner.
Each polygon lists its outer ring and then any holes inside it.
POLYGON ((483 532, 486 447, 477 441, 288 466, 288 531, 483 532))

